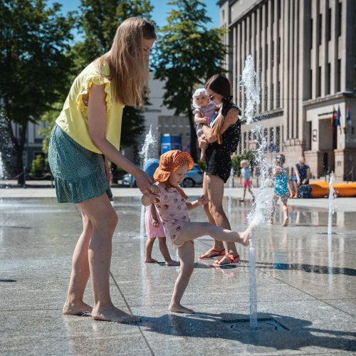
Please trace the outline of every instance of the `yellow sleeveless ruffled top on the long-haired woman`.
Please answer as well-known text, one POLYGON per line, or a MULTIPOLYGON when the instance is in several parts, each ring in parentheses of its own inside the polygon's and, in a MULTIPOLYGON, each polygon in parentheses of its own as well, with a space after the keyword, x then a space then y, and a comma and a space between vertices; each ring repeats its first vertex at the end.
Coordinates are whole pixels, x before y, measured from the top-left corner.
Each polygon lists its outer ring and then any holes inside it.
POLYGON ((88 95, 90 87, 105 84, 106 93, 106 139, 120 150, 120 135, 122 110, 125 105, 115 103, 110 80, 108 79, 110 70, 108 63, 104 62, 103 68, 98 68, 95 62, 90 63, 82 73, 75 78, 69 90, 66 102, 63 105, 61 114, 56 120, 56 124, 73 138, 80 146, 87 150, 102 153, 95 147, 89 136, 88 128, 88 103, 83 102, 83 95, 88 95))

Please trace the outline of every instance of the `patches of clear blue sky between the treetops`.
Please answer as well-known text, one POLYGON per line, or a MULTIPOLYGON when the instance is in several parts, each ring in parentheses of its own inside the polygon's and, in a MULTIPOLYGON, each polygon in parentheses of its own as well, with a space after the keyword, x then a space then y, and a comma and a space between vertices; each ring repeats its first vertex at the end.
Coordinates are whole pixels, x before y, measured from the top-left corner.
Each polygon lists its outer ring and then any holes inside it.
MULTIPOLYGON (((80 0, 49 0, 48 4, 53 2, 58 2, 62 4, 62 11, 66 13, 68 11, 74 11, 78 9, 80 0)), ((158 26, 163 26, 166 18, 167 12, 169 12, 170 6, 167 5, 169 1, 162 0, 151 0, 151 4, 155 6, 152 13, 152 19, 156 21, 158 26)), ((219 27, 219 6, 216 5, 217 0, 206 0, 206 14, 211 18, 211 23, 207 23, 210 27, 219 27)))

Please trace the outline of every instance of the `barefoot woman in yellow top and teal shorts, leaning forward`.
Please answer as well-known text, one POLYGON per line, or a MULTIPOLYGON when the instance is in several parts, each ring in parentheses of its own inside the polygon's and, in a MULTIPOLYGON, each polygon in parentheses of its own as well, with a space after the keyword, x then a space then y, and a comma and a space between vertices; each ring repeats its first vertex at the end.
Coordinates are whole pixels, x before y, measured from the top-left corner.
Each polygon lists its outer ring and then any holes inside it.
POLYGON ((119 149, 122 109, 144 103, 155 39, 155 28, 149 21, 130 18, 122 22, 110 51, 75 78, 51 133, 48 158, 58 202, 77 204, 83 219, 63 307, 66 315, 89 312, 96 320, 138 321, 115 308, 110 298, 112 235, 117 215, 110 204, 106 159, 132 174, 141 192, 150 195, 150 177, 122 156, 119 149), (93 308, 83 301, 89 276, 93 308))

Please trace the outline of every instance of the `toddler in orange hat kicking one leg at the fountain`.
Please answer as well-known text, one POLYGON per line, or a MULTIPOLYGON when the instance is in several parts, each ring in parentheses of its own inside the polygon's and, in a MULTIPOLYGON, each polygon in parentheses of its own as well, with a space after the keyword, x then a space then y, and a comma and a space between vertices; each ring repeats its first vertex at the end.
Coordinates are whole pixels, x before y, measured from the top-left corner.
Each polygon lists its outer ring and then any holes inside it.
POLYGON ((184 179, 184 174, 193 168, 193 164, 193 159, 187 152, 180 150, 165 152, 160 157, 159 167, 154 174, 156 183, 142 197, 142 204, 145 206, 155 202, 159 217, 163 221, 167 239, 174 248, 178 249, 181 267, 174 284, 169 310, 189 314, 194 313, 194 310, 184 307, 181 300, 194 270, 193 240, 208 235, 216 240, 239 242, 248 246, 251 234, 251 228, 239 233, 208 222, 191 222, 189 220, 190 210, 209 201, 205 195, 195 201, 187 201, 187 195, 179 187, 179 183, 184 179), (155 194, 156 198, 152 197, 152 194, 155 194))

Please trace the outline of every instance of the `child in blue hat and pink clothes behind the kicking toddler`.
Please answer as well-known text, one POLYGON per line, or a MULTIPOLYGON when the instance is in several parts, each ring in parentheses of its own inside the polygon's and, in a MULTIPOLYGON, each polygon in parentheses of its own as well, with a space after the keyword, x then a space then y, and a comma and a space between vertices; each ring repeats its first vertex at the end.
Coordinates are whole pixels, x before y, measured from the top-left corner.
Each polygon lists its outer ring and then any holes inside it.
MULTIPOLYGON (((155 170, 159 166, 158 159, 148 159, 145 163, 143 170, 145 173, 153 179, 153 174, 155 170)), ((152 248, 153 244, 155 243, 156 238, 159 242, 159 250, 162 253, 164 261, 166 261, 166 266, 179 266, 178 261, 172 260, 166 243, 166 235, 164 234, 163 223, 159 216, 157 216, 157 211, 155 204, 151 204, 150 206, 146 206, 146 213, 145 213, 145 227, 146 227, 146 234, 147 234, 147 241, 145 245, 145 252, 146 252, 146 263, 157 263, 158 261, 155 258, 152 258, 152 248)))

